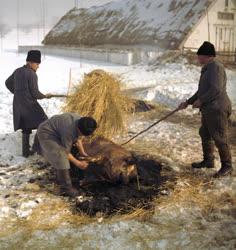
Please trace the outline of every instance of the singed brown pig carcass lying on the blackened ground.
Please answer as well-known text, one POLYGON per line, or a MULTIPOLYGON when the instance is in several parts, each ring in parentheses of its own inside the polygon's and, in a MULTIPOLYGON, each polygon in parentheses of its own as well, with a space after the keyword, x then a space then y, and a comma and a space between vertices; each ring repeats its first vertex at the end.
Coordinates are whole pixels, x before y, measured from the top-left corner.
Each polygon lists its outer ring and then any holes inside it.
MULTIPOLYGON (((92 142, 84 141, 84 148, 91 160, 89 167, 84 171, 81 186, 95 182, 127 184, 137 178, 137 167, 132 154, 121 146, 103 137, 98 137, 92 142)), ((77 158, 75 148, 72 152, 77 158)))

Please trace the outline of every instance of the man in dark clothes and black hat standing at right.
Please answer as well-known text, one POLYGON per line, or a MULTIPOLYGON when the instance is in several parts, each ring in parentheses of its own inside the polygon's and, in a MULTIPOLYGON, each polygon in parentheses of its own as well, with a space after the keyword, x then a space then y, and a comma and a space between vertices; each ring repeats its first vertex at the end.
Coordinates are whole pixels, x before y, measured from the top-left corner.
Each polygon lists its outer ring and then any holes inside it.
POLYGON ((228 130, 232 111, 231 102, 226 92, 227 77, 224 66, 215 60, 214 45, 204 42, 199 48, 198 61, 203 65, 198 91, 180 109, 188 105, 199 108, 202 125, 199 134, 202 139, 203 161, 193 163, 193 168, 214 167, 214 144, 221 160, 221 169, 214 175, 220 177, 232 173, 232 158, 229 146, 228 130))

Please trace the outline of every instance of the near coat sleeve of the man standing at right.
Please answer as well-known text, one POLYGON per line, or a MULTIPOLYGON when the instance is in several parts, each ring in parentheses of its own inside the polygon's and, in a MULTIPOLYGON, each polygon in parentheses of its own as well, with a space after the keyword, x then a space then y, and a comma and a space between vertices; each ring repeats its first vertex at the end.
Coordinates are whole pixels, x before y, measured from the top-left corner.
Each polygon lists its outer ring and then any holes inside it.
POLYGON ((225 71, 223 67, 212 64, 208 70, 209 88, 206 93, 198 97, 203 104, 214 101, 224 89, 225 71))

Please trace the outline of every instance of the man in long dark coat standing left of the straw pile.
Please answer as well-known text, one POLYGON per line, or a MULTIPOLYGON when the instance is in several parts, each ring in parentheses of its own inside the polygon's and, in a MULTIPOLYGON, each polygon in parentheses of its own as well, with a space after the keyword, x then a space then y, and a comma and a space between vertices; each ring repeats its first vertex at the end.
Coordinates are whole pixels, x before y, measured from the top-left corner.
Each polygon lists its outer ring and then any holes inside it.
POLYGON ((6 80, 6 87, 14 94, 13 121, 14 130, 22 129, 22 154, 31 154, 29 138, 32 129, 47 119, 47 115, 37 102, 38 99, 51 98, 51 94, 44 95, 38 89, 36 71, 41 63, 41 53, 38 50, 28 52, 26 65, 16 69, 6 80))

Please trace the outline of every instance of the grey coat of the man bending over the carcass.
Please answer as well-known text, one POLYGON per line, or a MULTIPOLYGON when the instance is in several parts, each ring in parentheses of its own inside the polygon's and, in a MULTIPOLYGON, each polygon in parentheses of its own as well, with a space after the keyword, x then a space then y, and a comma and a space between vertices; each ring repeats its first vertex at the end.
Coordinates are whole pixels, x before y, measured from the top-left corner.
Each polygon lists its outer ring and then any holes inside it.
POLYGON ((79 138, 80 118, 80 115, 74 113, 55 115, 40 124, 37 130, 36 138, 39 145, 35 143, 33 148, 55 169, 70 168, 68 154, 73 143, 79 138))

